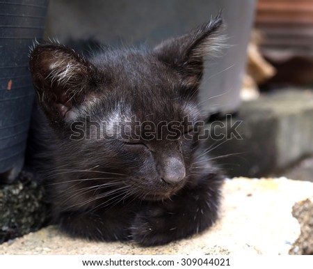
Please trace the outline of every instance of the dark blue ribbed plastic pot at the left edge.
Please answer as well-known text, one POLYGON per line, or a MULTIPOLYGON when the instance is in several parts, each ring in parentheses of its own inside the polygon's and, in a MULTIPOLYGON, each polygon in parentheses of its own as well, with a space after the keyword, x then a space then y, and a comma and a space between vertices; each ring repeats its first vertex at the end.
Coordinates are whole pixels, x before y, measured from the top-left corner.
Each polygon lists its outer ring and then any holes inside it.
POLYGON ((29 46, 42 38, 47 3, 0 1, 0 173, 24 158, 33 102, 29 46))

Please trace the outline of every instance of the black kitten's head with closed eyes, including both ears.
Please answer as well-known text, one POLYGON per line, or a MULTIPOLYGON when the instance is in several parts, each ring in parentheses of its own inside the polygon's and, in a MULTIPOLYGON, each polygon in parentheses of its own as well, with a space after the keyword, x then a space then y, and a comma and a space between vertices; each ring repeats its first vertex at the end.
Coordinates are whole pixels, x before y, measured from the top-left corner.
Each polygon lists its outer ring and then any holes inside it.
POLYGON ((218 16, 153 49, 104 49, 89 59, 63 45, 35 47, 31 74, 57 165, 146 199, 177 192, 198 148, 203 57, 219 49, 222 28, 218 16))

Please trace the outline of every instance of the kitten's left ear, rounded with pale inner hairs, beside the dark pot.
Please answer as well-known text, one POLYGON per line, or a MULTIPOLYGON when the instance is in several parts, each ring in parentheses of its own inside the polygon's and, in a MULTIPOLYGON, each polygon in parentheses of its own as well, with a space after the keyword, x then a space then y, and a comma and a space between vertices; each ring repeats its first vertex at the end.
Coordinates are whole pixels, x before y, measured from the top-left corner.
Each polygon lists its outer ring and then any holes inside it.
POLYGON ((29 64, 40 105, 51 122, 75 118, 95 77, 92 64, 72 49, 49 43, 33 49, 29 64))

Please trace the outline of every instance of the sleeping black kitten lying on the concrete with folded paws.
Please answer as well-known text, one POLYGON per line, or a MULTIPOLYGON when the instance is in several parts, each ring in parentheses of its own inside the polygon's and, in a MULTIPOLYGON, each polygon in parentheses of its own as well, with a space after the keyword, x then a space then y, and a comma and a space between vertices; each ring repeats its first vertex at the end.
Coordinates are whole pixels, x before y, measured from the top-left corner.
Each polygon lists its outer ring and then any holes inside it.
POLYGON ((197 91, 222 24, 218 16, 154 49, 103 49, 88 59, 63 45, 33 49, 33 84, 49 123, 38 132, 63 230, 149 246, 216 220, 223 176, 198 137, 197 91))

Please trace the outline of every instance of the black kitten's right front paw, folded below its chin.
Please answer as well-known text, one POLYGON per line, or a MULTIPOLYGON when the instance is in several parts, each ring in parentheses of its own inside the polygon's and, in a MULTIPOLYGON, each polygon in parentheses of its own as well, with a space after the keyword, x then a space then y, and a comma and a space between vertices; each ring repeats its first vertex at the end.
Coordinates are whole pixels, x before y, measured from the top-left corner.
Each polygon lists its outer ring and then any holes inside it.
POLYGON ((145 206, 136 214, 131 226, 131 238, 136 243, 143 246, 170 243, 200 233, 216 220, 214 203, 202 201, 196 195, 189 197, 189 201, 175 198, 145 206))

